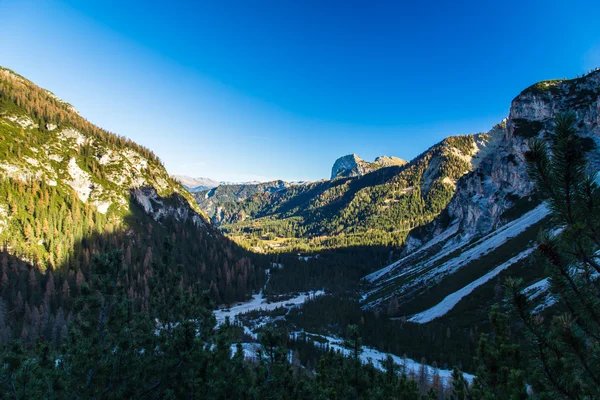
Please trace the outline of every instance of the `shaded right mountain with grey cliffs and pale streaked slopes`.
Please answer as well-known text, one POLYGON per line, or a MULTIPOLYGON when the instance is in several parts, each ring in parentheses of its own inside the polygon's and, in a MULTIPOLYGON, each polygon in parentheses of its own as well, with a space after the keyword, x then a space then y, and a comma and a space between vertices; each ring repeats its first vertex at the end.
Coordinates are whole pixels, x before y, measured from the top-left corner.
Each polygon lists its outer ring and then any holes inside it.
POLYGON ((524 280, 537 310, 552 304, 544 271, 530 257, 540 228, 551 227, 550 210, 533 191, 525 152, 530 138, 547 140, 553 118, 566 111, 575 113, 577 133, 591 149, 590 172, 598 171, 600 71, 523 90, 494 129, 494 151, 459 179, 440 216, 411 231, 398 261, 365 277, 371 288, 363 307, 417 323, 481 323, 507 276, 524 280))

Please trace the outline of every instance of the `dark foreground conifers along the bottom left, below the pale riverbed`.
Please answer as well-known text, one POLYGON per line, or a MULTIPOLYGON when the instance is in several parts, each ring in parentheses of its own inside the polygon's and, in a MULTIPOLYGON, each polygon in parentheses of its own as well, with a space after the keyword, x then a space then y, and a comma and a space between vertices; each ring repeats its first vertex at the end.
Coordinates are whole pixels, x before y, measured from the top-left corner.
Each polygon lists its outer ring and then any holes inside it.
MULTIPOLYGON (((388 360, 385 372, 358 360, 358 327, 348 328, 353 356, 322 352, 315 372, 288 356, 287 336, 267 327, 254 360, 231 352, 228 321, 214 330, 208 296, 183 289, 172 246, 152 279, 152 308, 136 312, 122 284, 121 252, 94 257, 61 346, 0 350, 0 398, 420 399, 414 381, 388 360)), ((313 349, 315 349, 313 347, 313 349)), ((429 385, 424 391, 429 390, 429 385)))

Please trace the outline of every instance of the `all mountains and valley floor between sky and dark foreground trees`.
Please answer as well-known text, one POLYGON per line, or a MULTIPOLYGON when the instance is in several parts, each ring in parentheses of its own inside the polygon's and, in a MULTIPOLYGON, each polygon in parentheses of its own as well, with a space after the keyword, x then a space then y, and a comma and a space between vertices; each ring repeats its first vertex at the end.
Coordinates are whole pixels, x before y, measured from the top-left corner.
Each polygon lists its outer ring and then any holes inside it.
MULTIPOLYGON (((117 254, 126 268, 115 285, 128 312, 151 310, 167 270, 181 298, 218 307, 215 319, 240 343, 241 359, 261 357, 256 348, 269 345, 261 335, 273 339, 278 327, 291 336, 282 359, 293 354, 294 368, 311 374, 325 345, 350 351, 350 325, 369 357, 405 356, 413 372, 428 371, 426 358, 446 377, 459 364, 476 372, 488 314, 506 308, 505 278, 522 280, 534 314, 549 315, 557 301, 533 254, 541 229, 560 235, 562 227, 525 158, 530 140, 549 141, 554 118, 567 111, 587 168, 598 171, 596 70, 536 83, 488 132, 450 136, 409 162, 350 154, 330 179, 236 184, 169 176, 149 149, 1 68, 0 345, 18 339, 33 349, 39 340, 60 349, 85 316, 80 303, 97 282, 97 259, 117 254)), ((164 326, 154 322, 159 336, 164 326)), ((214 347, 227 359, 231 343, 223 343, 214 347)))

